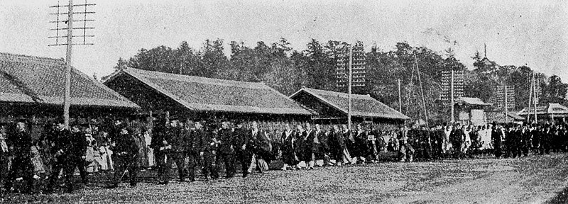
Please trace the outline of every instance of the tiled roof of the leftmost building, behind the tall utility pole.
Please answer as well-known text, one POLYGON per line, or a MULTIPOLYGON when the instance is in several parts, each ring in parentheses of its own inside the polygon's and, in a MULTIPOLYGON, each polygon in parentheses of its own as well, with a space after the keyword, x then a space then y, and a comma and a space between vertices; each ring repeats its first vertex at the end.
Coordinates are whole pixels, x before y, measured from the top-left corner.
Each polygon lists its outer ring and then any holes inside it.
MULTIPOLYGON (((0 102, 62 105, 65 61, 0 52, 0 102)), ((71 106, 140 108, 73 68, 71 106)))

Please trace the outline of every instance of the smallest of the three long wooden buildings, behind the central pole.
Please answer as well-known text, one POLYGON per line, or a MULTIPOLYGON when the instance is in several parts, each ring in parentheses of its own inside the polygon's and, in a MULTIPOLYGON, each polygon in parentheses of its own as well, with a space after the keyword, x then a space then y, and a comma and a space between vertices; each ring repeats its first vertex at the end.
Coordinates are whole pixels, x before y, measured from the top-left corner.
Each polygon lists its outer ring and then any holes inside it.
MULTIPOLYGON (((317 113, 312 116, 314 123, 324 125, 346 124, 349 109, 349 94, 302 88, 290 98, 317 113)), ((351 120, 353 123, 371 123, 373 125, 394 128, 410 120, 395 109, 386 106, 369 95, 351 94, 351 120)))

